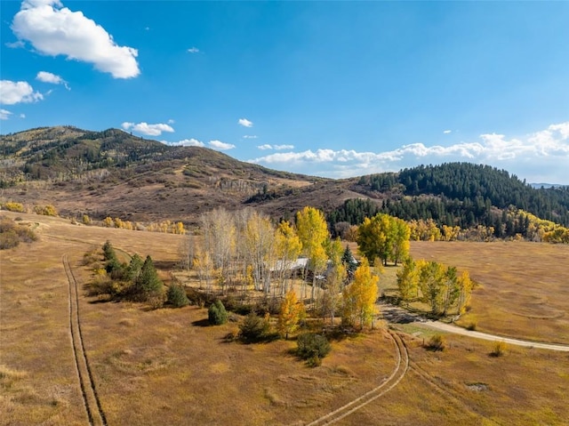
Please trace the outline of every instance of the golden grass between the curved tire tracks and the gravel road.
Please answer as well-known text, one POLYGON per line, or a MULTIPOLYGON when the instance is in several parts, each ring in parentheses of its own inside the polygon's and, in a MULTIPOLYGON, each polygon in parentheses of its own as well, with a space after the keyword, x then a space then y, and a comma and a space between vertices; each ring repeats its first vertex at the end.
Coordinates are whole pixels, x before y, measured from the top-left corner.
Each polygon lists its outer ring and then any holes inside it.
POLYGON ((411 366, 403 382, 338 424, 567 424, 566 353, 510 346, 495 358, 493 342, 446 338, 443 352, 407 339, 411 366))

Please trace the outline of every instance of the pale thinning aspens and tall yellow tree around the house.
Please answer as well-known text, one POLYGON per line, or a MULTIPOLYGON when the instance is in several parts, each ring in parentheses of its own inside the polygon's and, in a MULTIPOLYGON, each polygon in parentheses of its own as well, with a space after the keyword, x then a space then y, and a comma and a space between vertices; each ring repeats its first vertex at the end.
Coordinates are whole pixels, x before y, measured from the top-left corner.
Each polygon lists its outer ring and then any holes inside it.
POLYGON ((324 216, 312 207, 297 215, 296 227, 288 221, 275 224, 252 209, 216 209, 201 216, 199 233, 180 247, 182 261, 196 270, 206 291, 218 284, 222 293, 241 286, 244 292, 252 287, 282 296, 293 272, 308 277, 309 270, 315 271, 316 280, 325 269, 330 242, 324 216), (308 261, 299 263, 301 253, 308 261))

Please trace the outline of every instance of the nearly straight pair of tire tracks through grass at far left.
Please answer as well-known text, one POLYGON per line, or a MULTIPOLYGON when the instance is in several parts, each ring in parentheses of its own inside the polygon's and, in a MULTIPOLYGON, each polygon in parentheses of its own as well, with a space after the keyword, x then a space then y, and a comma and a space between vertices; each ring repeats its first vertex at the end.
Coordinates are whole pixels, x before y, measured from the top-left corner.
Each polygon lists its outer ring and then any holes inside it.
POLYGON ((79 317, 79 294, 77 280, 69 264, 68 254, 61 257, 65 274, 68 277, 69 298, 69 330, 71 334, 71 346, 75 358, 76 373, 81 388, 85 412, 91 426, 107 426, 107 418, 100 405, 95 384, 92 380, 91 367, 84 348, 83 334, 81 333, 81 321, 79 317))

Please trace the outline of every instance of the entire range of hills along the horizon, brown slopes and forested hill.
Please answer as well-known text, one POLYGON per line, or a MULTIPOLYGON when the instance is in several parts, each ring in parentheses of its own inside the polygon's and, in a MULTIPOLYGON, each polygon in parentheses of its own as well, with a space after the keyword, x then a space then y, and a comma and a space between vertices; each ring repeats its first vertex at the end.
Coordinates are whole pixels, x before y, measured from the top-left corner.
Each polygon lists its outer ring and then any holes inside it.
POLYGON ((509 223, 508 213, 522 209, 569 226, 568 187, 535 189, 488 165, 421 165, 332 180, 271 170, 212 149, 168 146, 118 129, 45 127, 3 135, 0 143, 0 202, 52 204, 68 216, 196 223, 219 206, 250 206, 289 219, 312 205, 332 226, 385 212, 439 226, 493 226, 501 237, 523 230, 509 223))

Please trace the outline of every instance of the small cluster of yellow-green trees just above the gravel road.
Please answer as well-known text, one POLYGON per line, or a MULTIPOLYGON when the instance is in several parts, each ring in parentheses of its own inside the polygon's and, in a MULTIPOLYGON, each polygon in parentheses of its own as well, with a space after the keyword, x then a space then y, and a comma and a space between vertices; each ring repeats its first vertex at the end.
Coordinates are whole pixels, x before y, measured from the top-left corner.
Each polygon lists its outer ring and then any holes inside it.
POLYGON ((459 275, 454 267, 408 257, 397 271, 397 287, 406 303, 422 301, 435 315, 447 315, 452 310, 460 315, 469 306, 474 282, 468 270, 459 275))

